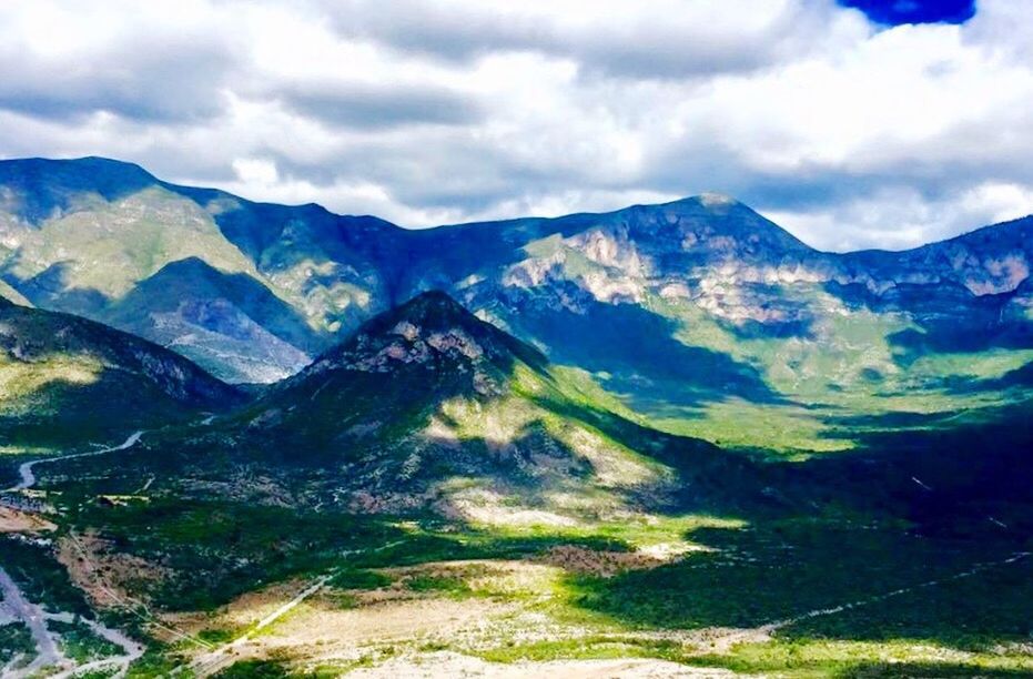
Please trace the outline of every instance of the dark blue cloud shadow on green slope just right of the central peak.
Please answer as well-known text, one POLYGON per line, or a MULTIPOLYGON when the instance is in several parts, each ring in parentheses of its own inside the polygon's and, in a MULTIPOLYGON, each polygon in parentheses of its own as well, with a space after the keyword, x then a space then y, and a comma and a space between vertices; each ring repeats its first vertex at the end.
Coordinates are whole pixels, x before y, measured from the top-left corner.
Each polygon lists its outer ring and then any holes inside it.
POLYGON ((550 347, 556 364, 598 373, 607 391, 645 411, 661 403, 695 406, 740 396, 786 403, 751 365, 727 354, 688 346, 677 325, 634 304, 585 301, 585 313, 530 303, 512 318, 519 334, 550 347))

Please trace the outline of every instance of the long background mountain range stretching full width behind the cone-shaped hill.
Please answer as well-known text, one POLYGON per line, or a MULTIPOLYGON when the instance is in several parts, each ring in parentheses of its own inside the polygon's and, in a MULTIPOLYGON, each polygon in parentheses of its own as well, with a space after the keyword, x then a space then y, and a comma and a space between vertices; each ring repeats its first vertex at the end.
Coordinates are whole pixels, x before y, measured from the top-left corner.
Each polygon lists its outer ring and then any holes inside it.
POLYGON ((443 290, 652 426, 790 454, 857 445, 844 417, 1021 399, 989 385, 1033 362, 1031 230, 1027 217, 905 252, 823 253, 703 194, 409 231, 103 159, 0 162, 0 280, 227 381, 295 374, 443 290), (965 381, 986 388, 960 395, 965 381))

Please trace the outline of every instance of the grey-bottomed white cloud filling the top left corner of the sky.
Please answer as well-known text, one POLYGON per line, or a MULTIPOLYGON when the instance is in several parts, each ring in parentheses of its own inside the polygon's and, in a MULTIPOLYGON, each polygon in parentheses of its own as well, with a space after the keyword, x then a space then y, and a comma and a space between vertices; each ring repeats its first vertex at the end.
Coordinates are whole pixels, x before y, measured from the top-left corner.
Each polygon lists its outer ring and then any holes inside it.
POLYGON ((110 112, 133 120, 203 121, 223 105, 235 45, 206 17, 97 3, 0 4, 0 107, 39 118, 110 112), (132 20, 126 18, 132 17, 132 20))

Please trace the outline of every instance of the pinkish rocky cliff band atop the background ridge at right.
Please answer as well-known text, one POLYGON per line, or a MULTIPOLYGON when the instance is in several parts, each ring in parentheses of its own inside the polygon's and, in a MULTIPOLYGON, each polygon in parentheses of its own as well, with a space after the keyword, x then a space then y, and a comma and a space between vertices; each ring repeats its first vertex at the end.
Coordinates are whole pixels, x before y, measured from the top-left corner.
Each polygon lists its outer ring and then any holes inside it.
POLYGON ((1030 322, 1021 301, 1003 310, 993 297, 1019 295, 1029 280, 1033 219, 901 253, 835 254, 812 250, 728 196, 706 194, 559 217, 537 233, 543 237, 521 257, 464 288, 474 307, 517 328, 534 310, 556 327, 564 314, 585 316, 600 304, 649 308, 664 300, 739 335, 769 337, 812 336, 859 306, 918 324, 950 316, 973 333, 1030 322), (988 322, 991 306, 1000 313, 988 322))

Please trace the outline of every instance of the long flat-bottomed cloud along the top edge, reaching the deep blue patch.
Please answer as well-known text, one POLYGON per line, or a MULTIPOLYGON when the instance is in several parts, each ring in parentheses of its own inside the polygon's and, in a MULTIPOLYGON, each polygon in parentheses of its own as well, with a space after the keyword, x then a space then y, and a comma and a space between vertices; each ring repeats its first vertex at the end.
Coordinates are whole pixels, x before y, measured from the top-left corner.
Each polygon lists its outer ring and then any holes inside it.
POLYGON ((374 0, 316 3, 341 34, 465 61, 500 51, 573 59, 587 72, 680 78, 770 68, 863 30, 801 0, 608 3, 591 0, 374 0))

